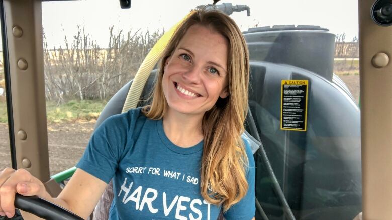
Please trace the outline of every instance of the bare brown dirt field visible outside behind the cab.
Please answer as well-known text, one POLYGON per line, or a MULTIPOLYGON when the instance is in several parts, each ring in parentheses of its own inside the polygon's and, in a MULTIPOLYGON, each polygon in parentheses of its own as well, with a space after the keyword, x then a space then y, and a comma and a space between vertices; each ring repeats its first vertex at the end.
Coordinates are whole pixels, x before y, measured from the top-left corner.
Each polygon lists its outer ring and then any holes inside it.
MULTIPOLYGON (((356 103, 359 97, 359 75, 342 75, 356 103)), ((50 174, 73 167, 81 155, 93 131, 95 121, 67 122, 48 125, 50 174)), ((0 123, 0 170, 11 166, 8 142, 8 125, 0 123)))

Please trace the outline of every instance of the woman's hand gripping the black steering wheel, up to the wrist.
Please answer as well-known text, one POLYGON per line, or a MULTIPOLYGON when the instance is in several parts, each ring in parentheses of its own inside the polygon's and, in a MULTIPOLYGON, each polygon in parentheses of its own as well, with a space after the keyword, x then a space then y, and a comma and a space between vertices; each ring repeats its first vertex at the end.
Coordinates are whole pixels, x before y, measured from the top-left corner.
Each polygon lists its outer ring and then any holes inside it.
POLYGON ((47 199, 50 197, 44 184, 25 169, 5 168, 0 173, 0 215, 11 218, 15 214, 15 194, 47 199))

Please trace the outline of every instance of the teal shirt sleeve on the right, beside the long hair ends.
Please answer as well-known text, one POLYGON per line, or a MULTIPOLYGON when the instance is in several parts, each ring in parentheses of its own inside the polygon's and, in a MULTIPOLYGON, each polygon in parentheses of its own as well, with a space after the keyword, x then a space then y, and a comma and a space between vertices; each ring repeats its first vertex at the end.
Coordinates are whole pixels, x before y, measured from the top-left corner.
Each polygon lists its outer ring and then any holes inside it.
POLYGON ((240 202, 233 205, 228 211, 226 211, 223 216, 227 220, 243 219, 250 220, 255 216, 256 206, 255 206, 255 173, 256 167, 254 163, 254 158, 252 151, 250 149, 249 143, 244 140, 246 155, 248 156, 249 167, 247 167, 246 180, 248 181, 248 192, 245 197, 241 199, 240 202))

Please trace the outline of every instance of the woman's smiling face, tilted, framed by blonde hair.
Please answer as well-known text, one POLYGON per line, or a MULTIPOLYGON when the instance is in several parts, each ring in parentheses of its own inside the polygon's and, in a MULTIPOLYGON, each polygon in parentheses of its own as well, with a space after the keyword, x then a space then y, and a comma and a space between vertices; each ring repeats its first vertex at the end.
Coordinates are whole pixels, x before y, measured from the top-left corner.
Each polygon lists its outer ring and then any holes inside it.
POLYGON ((201 26, 191 26, 167 58, 162 79, 169 111, 203 115, 226 98, 228 42, 201 26))

